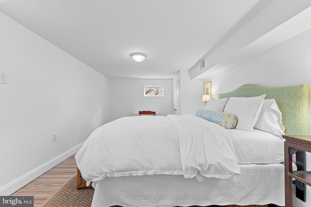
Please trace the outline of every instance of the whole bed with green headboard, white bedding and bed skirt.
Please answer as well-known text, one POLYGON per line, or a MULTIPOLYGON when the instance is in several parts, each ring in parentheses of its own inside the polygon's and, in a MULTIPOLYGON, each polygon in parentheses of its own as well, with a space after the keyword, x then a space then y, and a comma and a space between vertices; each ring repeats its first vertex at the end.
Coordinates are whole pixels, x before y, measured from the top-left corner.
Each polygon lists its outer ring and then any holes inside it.
MULTIPOLYGON (((229 97, 254 97, 247 101, 256 99, 256 103, 259 99, 260 110, 266 102, 263 98, 274 99, 284 133, 308 134, 309 86, 305 84, 269 88, 246 84, 220 94, 215 103, 228 98, 222 115, 238 117, 235 123, 217 123, 211 115, 220 111, 208 109, 196 115, 123 117, 96 129, 76 154, 81 175, 87 184, 93 181, 92 207, 284 206, 281 134, 248 130, 248 124, 247 130, 241 129, 244 117, 226 110, 240 114, 241 107, 235 111, 235 106, 242 98, 229 97)), ((258 110, 260 120, 265 116, 258 110)), ((257 119, 252 124, 259 123, 257 119)))

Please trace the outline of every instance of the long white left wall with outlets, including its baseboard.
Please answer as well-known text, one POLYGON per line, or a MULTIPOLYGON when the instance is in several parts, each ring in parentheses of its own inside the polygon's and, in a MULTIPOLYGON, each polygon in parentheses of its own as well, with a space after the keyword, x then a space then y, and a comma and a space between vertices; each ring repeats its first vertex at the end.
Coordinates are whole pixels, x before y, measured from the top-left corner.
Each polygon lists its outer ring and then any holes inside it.
POLYGON ((0 84, 0 195, 8 195, 103 124, 109 82, 2 13, 0 28, 0 71, 8 77, 0 84))

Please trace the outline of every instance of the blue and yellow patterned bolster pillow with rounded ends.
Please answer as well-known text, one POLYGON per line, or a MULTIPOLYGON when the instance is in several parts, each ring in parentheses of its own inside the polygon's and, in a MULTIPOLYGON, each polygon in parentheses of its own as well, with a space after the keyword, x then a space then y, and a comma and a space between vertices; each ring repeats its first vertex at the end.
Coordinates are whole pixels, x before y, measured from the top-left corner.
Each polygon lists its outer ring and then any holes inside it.
POLYGON ((219 124, 225 128, 234 128, 238 123, 237 116, 228 112, 197 110, 195 115, 206 119, 207 121, 219 124))

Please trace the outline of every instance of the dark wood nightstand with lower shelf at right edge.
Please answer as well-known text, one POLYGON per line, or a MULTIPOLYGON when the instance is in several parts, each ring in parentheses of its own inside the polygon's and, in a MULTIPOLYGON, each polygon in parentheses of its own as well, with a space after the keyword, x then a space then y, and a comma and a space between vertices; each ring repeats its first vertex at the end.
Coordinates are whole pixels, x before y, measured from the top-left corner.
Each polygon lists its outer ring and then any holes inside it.
POLYGON ((285 166, 285 207, 293 206, 293 178, 311 186, 311 171, 293 171, 293 154, 298 151, 311 152, 311 136, 283 135, 285 166))

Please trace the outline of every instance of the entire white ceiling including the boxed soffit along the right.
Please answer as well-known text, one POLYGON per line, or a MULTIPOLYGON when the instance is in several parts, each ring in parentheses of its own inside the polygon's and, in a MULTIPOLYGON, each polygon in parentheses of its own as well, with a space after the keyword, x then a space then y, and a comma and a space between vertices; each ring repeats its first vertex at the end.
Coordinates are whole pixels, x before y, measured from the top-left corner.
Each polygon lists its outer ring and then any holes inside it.
POLYGON ((107 78, 171 79, 189 70, 191 79, 204 79, 291 31, 310 29, 310 6, 310 0, 7 0, 0 12, 107 78), (133 52, 148 57, 136 63, 133 52))

